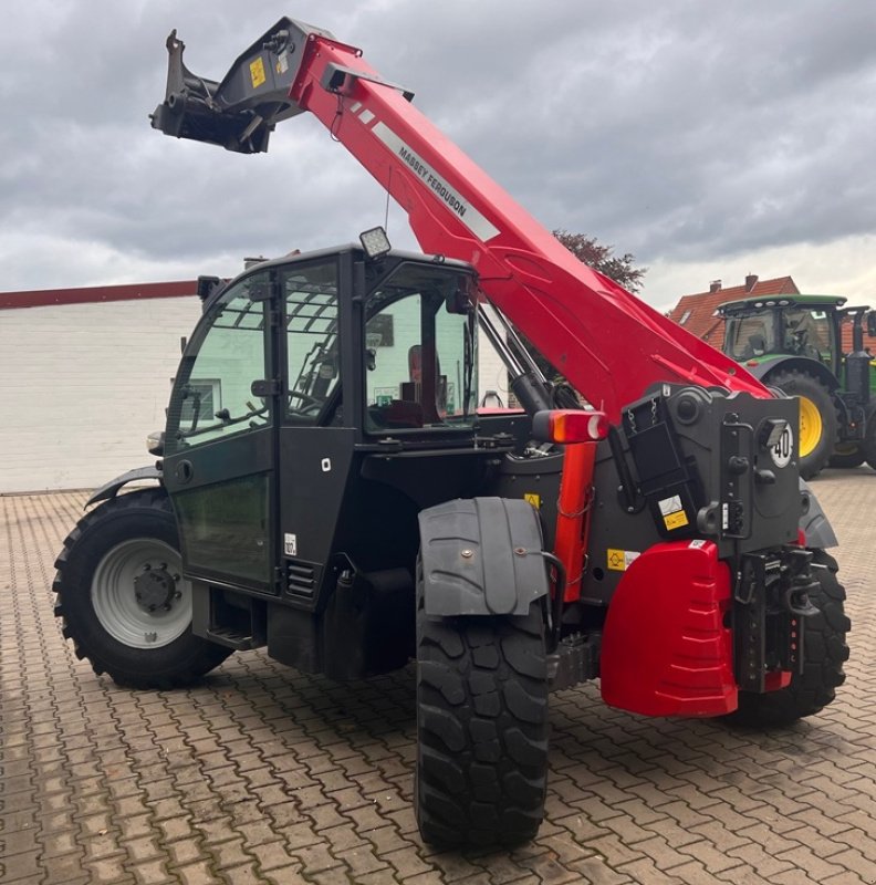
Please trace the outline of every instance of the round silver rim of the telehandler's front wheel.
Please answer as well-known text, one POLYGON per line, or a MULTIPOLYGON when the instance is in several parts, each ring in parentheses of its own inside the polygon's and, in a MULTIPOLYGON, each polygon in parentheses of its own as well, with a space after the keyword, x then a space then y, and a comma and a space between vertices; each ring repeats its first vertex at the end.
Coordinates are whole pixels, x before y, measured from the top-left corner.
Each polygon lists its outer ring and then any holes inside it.
POLYGON ((92 579, 101 626, 129 648, 161 648, 191 624, 191 584, 169 544, 137 538, 114 546, 92 579))

